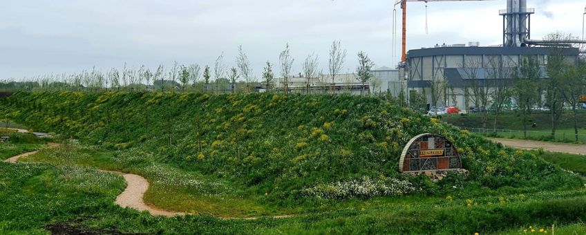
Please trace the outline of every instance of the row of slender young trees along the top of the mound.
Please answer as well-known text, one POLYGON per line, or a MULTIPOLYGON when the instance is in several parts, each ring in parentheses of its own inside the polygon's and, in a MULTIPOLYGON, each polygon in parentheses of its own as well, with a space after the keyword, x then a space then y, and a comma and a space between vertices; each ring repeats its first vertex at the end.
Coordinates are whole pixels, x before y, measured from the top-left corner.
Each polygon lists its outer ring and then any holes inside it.
MULTIPOLYGON (((334 79, 343 70, 343 64, 346 61, 347 51, 341 48, 340 41, 332 42, 330 48, 330 59, 328 72, 332 79, 330 91, 334 84, 334 79)), ((370 69, 373 64, 370 62, 366 53, 360 52, 359 68, 357 73, 359 81, 363 83, 372 79, 370 69)), ((281 76, 281 86, 283 92, 287 93, 289 79, 292 77, 292 67, 294 58, 290 53, 290 46, 287 44, 285 49, 279 54, 278 62, 280 65, 279 75, 281 76)), ((310 80, 325 77, 323 70, 319 70, 319 57, 314 53, 308 55, 301 64, 304 76, 308 79, 307 93, 310 93, 310 80)), ((129 68, 126 63, 122 69, 112 68, 110 71, 102 72, 95 67, 90 71, 82 71, 77 74, 50 74, 31 79, 25 79, 25 82, 15 82, 12 80, 0 80, 0 89, 4 90, 75 90, 75 91, 104 91, 104 90, 124 90, 124 91, 204 91, 216 93, 234 93, 237 91, 249 93, 256 86, 264 86, 267 90, 274 88, 275 75, 273 64, 267 61, 262 72, 261 81, 258 82, 254 75, 252 65, 250 64, 247 54, 243 47, 238 47, 234 66, 228 67, 225 64, 224 54, 216 58, 214 66, 200 66, 199 64, 178 64, 166 69, 162 64, 156 69, 151 70, 147 66, 140 68, 129 68), (238 88, 236 86, 238 84, 238 88)), ((323 81, 325 84, 325 81, 323 81)))

